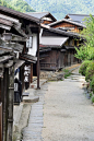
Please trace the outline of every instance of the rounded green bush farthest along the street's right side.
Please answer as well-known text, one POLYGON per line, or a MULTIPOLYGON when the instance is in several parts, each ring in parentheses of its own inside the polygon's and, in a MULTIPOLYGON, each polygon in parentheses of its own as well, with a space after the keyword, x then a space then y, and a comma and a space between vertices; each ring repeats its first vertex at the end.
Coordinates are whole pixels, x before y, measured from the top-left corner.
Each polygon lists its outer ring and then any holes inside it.
POLYGON ((81 73, 82 75, 85 75, 86 73, 86 68, 90 64, 91 60, 85 60, 82 62, 80 69, 79 69, 79 73, 81 73))

